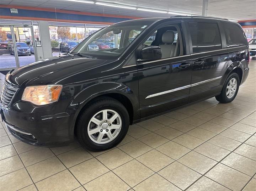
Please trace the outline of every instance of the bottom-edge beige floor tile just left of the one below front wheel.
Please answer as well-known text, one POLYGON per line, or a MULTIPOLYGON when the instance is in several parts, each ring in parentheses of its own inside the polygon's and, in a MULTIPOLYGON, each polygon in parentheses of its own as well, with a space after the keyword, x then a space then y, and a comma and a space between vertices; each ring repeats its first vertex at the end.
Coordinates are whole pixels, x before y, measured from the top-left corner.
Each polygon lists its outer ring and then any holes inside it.
POLYGON ((64 170, 58 174, 50 176, 47 179, 37 182, 36 186, 40 191, 68 191, 74 190, 75 188, 79 187, 80 184, 68 170, 64 170))

